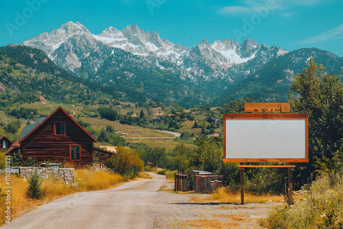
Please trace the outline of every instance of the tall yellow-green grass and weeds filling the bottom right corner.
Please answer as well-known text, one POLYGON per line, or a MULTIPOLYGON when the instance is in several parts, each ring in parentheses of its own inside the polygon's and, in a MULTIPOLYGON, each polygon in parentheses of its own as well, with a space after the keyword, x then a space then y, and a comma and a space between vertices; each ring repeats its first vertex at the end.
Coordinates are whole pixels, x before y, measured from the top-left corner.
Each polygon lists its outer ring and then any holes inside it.
POLYGON ((261 221, 266 228, 343 228, 343 171, 324 173, 293 206, 275 208, 261 221))

